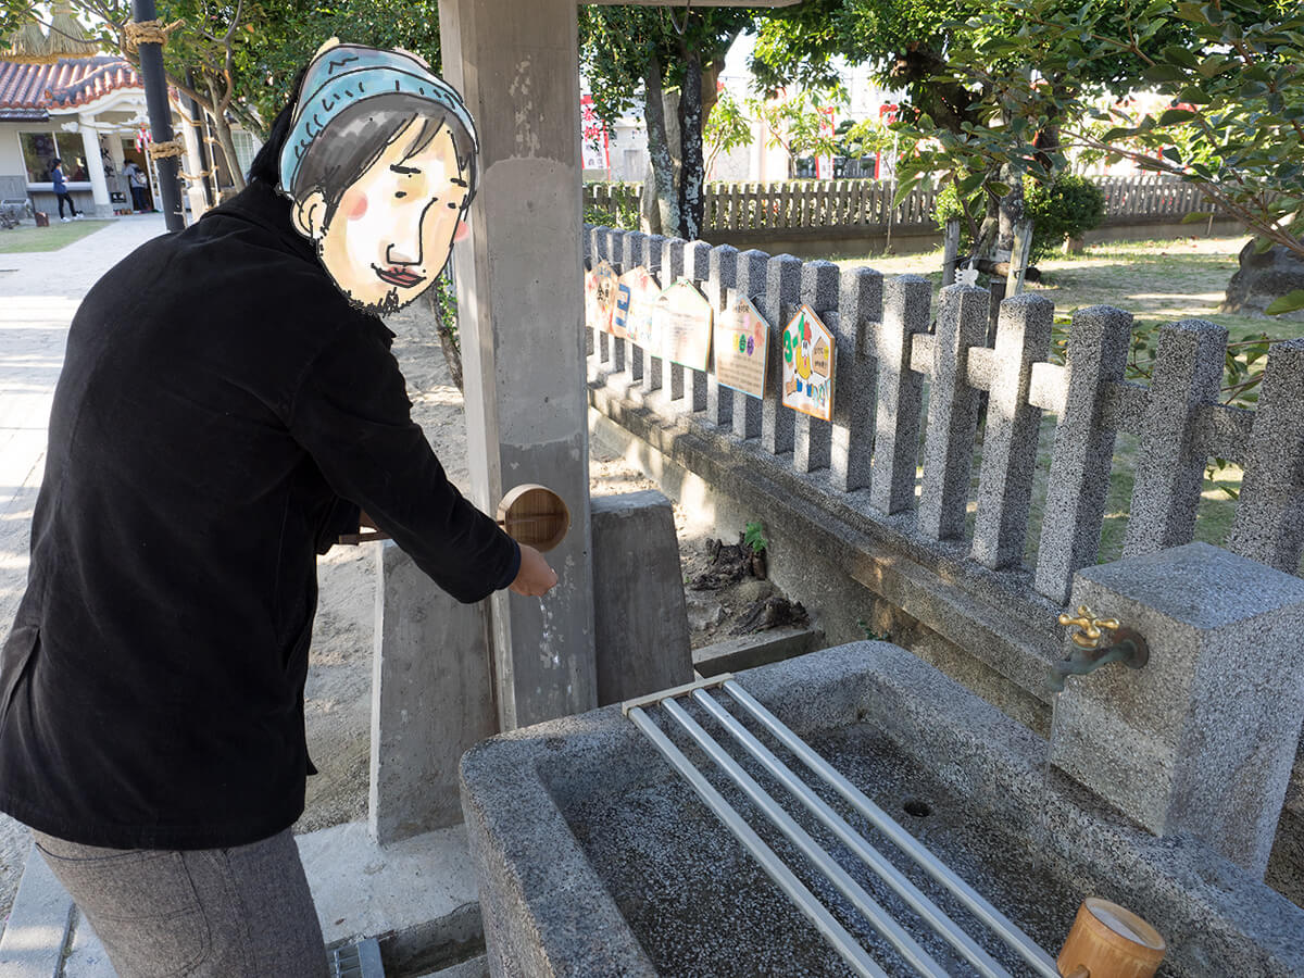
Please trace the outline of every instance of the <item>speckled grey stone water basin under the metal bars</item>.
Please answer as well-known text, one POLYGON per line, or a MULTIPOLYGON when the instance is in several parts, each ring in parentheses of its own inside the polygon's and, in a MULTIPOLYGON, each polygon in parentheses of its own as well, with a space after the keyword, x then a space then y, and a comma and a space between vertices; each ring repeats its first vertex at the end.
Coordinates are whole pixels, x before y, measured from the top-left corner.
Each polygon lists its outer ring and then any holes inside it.
MULTIPOLYGON (((909 652, 855 643, 737 681, 1052 956, 1082 897, 1168 939, 1159 974, 1304 975, 1304 910, 1193 838, 1155 838, 1052 771, 1046 742, 909 652)), ((1015 975, 1031 969, 720 691, 781 760, 1015 975)), ((951 974, 973 974, 867 867, 690 715, 951 974)), ((648 715, 892 975, 914 971, 657 707, 648 715)), ((608 707, 462 762, 496 975, 853 971, 647 738, 608 707)))

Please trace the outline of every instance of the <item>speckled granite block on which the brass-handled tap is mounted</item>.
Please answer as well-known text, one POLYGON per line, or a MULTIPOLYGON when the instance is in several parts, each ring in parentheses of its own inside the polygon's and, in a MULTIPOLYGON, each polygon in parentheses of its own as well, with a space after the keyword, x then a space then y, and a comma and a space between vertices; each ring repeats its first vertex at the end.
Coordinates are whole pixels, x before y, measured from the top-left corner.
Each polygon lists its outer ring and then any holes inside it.
POLYGON ((1150 660, 1068 678, 1051 760, 1262 879, 1304 721, 1304 580, 1187 544, 1080 570, 1078 605, 1141 632, 1150 660))

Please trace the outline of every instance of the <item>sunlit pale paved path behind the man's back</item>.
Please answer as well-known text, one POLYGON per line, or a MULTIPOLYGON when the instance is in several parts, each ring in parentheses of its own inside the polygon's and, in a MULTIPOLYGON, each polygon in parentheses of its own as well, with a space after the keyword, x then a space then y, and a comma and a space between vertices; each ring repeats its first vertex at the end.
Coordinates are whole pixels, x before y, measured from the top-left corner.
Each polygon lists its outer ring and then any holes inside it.
MULTIPOLYGON (((120 218, 57 252, 0 254, 0 643, 27 580, 31 510, 68 326, 95 280, 163 231, 160 214, 120 218)), ((26 855, 26 832, 0 815, 0 919, 26 855)))

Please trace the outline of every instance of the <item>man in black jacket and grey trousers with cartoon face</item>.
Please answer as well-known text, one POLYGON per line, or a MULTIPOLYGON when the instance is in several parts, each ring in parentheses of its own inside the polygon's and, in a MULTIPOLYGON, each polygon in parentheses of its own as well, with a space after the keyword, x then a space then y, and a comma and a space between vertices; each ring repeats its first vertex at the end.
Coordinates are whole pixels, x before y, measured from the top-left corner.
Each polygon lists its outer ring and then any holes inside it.
POLYGON ((406 55, 331 48, 296 106, 244 192, 77 310, 0 657, 0 810, 121 978, 325 974, 289 825, 316 554, 361 510, 462 601, 557 582, 445 477, 376 317, 462 227, 460 98, 406 55), (342 73, 413 81, 321 110, 342 73))

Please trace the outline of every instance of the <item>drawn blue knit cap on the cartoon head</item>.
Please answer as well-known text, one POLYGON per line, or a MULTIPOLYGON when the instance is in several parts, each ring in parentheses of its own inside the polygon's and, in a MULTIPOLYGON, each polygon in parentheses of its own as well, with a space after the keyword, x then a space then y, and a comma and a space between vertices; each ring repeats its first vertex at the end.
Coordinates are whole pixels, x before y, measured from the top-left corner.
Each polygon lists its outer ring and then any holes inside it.
MULTIPOLYGON (((280 188, 289 194, 299 163, 313 140, 349 106, 377 95, 403 93, 447 110, 476 141, 476 124, 456 90, 411 55, 361 44, 339 44, 313 59, 304 73, 295 121, 280 150, 280 188)), ((475 162, 471 160, 475 189, 475 162)))

